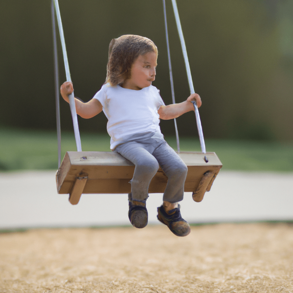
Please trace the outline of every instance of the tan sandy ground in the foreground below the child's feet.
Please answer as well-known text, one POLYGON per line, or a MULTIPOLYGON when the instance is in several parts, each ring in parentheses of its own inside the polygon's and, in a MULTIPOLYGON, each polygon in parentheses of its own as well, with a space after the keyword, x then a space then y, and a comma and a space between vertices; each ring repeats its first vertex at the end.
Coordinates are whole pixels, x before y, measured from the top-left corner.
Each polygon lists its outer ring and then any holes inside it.
POLYGON ((35 229, 0 235, 0 292, 293 292, 287 224, 35 229))

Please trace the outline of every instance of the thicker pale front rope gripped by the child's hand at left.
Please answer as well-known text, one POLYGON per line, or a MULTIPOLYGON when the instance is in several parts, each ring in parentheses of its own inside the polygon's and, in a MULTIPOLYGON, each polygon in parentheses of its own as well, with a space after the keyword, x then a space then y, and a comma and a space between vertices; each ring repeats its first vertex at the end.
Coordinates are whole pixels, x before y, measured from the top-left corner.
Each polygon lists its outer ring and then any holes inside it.
MULTIPOLYGON (((64 66, 65 66, 66 80, 71 81, 58 0, 54 0, 54 6, 55 6, 57 22, 58 22, 58 27, 59 27, 59 34, 60 34, 61 45, 62 45, 62 52, 63 52, 64 66)), ((72 121, 73 121, 73 129, 74 129, 76 148, 77 148, 77 151, 81 151, 81 141, 80 141, 78 120, 77 120, 77 114, 76 114, 76 108, 75 108, 75 102, 74 102, 74 93, 71 93, 69 95, 69 105, 70 105, 70 111, 71 111, 71 116, 72 116, 72 121)))

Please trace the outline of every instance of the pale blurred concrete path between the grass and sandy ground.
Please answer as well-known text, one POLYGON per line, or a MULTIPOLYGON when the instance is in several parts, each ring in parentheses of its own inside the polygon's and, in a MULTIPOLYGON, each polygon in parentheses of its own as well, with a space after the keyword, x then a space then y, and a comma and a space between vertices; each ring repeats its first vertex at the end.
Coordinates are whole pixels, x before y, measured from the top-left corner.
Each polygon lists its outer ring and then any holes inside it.
MULTIPOLYGON (((149 223, 159 223, 162 194, 147 201, 149 223)), ((202 202, 185 193, 181 214, 190 223, 292 220, 293 173, 220 171, 202 202)), ((55 171, 0 173, 0 229, 130 225, 127 195, 82 195, 78 205, 56 191, 55 171)))

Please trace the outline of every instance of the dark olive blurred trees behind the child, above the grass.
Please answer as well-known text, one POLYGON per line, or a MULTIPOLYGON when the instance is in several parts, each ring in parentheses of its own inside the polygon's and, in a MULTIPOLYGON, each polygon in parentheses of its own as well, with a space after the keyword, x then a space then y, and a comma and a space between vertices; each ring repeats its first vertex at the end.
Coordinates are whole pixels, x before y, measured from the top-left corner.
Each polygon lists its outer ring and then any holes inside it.
MULTIPOLYGON (((171 103, 162 1, 60 0, 75 95, 90 100, 105 81, 112 38, 137 34, 159 50, 154 86, 171 103)), ((56 129, 51 1, 2 0, 0 127, 56 129)), ((189 96, 171 1, 166 1, 177 102, 189 96)), ((180 0, 178 10, 206 138, 293 139, 293 1, 180 0)), ((59 32, 60 83, 66 80, 59 32)), ((106 131, 103 114, 79 120, 81 132, 106 131)), ((178 118, 194 135, 194 114, 178 118)), ((62 130, 72 130, 61 101, 62 130)), ((173 135, 173 121, 161 122, 173 135), (171 125, 171 126, 170 126, 171 125)))

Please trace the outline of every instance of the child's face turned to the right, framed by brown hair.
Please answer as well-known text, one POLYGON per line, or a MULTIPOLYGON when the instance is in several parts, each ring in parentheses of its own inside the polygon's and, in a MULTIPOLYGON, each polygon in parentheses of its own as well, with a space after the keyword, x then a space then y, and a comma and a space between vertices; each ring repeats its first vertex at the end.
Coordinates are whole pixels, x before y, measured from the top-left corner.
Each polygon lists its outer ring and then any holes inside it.
POLYGON ((124 81, 122 87, 138 91, 150 86, 155 80, 157 57, 155 52, 139 55, 131 66, 130 78, 124 81))

